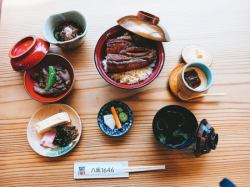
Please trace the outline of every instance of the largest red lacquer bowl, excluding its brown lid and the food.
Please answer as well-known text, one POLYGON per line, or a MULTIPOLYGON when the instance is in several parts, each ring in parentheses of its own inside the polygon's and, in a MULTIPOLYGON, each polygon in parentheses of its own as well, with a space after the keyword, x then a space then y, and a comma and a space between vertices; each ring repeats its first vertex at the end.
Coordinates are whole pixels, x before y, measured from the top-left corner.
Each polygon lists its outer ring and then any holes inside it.
POLYGON ((156 62, 156 66, 154 67, 152 74, 147 79, 140 81, 139 83, 131 84, 131 85, 118 83, 118 82, 112 80, 106 74, 106 72, 103 68, 102 62, 106 56, 106 42, 107 42, 107 40, 110 38, 114 38, 116 36, 120 36, 124 32, 128 32, 128 31, 123 29, 121 26, 117 25, 117 26, 114 26, 114 27, 110 28, 109 30, 107 30, 100 37, 100 39, 98 40, 98 42, 96 44, 95 54, 94 54, 96 68, 97 68, 99 74, 103 77, 103 79, 105 81, 107 81, 108 83, 110 83, 111 85, 114 85, 114 86, 119 87, 119 88, 124 88, 124 89, 141 88, 143 86, 150 84, 160 74, 160 72, 163 68, 163 65, 164 65, 164 60, 165 60, 165 53, 164 53, 163 45, 161 42, 156 43, 157 62, 156 62))

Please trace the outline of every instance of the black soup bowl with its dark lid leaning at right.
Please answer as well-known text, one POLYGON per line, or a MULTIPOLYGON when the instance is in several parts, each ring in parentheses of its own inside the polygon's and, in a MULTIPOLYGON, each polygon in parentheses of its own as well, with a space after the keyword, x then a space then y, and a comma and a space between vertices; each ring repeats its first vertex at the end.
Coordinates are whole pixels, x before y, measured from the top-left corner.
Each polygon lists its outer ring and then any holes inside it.
POLYGON ((216 149, 218 134, 206 119, 200 124, 194 114, 181 106, 169 105, 160 109, 153 120, 156 140, 171 150, 183 150, 194 145, 194 154, 216 149))

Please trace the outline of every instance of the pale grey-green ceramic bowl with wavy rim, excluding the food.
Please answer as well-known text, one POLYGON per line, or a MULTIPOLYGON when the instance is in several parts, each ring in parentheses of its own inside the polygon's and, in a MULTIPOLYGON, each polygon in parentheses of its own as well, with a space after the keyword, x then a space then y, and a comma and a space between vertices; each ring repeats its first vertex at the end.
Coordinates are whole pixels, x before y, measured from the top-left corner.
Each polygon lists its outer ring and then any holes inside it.
POLYGON ((73 49, 79 47, 83 43, 84 36, 87 33, 87 21, 85 17, 77 11, 63 12, 59 14, 51 15, 47 18, 43 34, 46 40, 52 44, 55 44, 63 49, 73 49), (55 28, 63 22, 74 22, 81 26, 83 33, 68 41, 58 41, 54 36, 55 28))

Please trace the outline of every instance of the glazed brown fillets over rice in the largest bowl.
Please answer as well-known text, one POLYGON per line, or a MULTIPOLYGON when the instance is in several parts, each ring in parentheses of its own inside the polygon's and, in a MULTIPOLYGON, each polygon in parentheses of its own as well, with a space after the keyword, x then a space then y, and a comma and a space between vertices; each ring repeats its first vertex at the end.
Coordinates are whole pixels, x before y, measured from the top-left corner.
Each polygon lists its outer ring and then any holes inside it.
POLYGON ((122 84, 136 84, 147 79, 157 61, 155 42, 130 32, 108 39, 105 52, 105 72, 122 84))

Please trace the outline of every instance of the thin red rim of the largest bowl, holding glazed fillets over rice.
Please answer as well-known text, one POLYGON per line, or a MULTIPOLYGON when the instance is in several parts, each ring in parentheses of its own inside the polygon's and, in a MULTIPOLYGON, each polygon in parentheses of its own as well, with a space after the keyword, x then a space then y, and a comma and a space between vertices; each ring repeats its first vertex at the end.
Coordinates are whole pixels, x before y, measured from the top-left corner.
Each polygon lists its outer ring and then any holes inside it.
MULTIPOLYGON (((157 49, 161 49, 162 52, 161 54, 158 53, 158 59, 161 58, 161 60, 157 60, 157 65, 154 67, 154 70, 152 72, 152 74, 145 80, 136 83, 136 84, 122 84, 122 83, 118 83, 114 80, 112 80, 104 71, 104 69, 102 67, 100 67, 99 62, 98 62, 98 57, 97 57, 97 48, 100 46, 101 41, 103 40, 105 43, 105 41, 107 40, 108 36, 110 35, 110 32, 115 32, 118 29, 124 29, 122 28, 120 25, 116 25, 111 27, 110 29, 108 29, 106 32, 104 32, 101 37, 99 38, 99 40, 97 41, 97 44, 95 46, 95 52, 94 52, 94 60, 95 60, 95 66, 96 69, 98 70, 99 74, 102 76, 102 78, 108 82, 109 84, 118 87, 118 88, 122 88, 122 89, 129 89, 129 90, 133 90, 133 89, 138 89, 138 88, 142 88, 144 86, 147 86, 148 84, 150 84, 152 81, 154 81, 158 75, 161 73, 161 70, 163 68, 164 62, 165 62, 165 52, 164 52, 164 48, 161 42, 157 43, 157 49)), ((126 30, 126 29, 124 29, 126 30)), ((100 46, 100 49, 102 50, 102 46, 100 46)), ((158 50, 157 50, 158 52, 158 50)))

